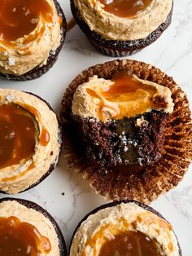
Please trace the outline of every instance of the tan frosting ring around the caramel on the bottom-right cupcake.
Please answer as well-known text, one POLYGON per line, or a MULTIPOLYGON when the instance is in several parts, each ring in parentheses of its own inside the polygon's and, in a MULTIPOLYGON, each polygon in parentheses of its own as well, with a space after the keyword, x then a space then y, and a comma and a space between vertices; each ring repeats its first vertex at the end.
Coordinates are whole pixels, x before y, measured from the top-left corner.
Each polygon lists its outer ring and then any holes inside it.
POLYGON ((179 255, 172 226, 163 218, 133 202, 121 203, 90 214, 76 230, 70 256, 102 255, 100 253, 103 251, 103 245, 124 232, 138 232, 145 235, 147 241, 155 241, 159 251, 157 255, 179 255))

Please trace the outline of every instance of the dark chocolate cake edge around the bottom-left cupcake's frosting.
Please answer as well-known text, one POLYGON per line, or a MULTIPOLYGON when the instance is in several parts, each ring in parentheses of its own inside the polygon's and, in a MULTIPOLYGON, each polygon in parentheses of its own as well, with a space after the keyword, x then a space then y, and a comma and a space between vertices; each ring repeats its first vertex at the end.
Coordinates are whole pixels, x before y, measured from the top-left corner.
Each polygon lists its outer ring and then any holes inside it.
POLYGON ((33 210, 37 210, 39 213, 43 214, 46 218, 48 218, 50 220, 50 222, 52 223, 52 225, 55 227, 55 232, 58 235, 60 256, 68 255, 64 237, 59 228, 59 225, 58 225, 58 223, 55 222, 55 219, 45 209, 43 209, 40 205, 37 205, 33 201, 28 201, 28 200, 24 200, 24 199, 15 199, 15 198, 11 198, 11 197, 10 198, 6 197, 6 198, 0 199, 0 203, 2 203, 3 201, 17 201, 18 203, 20 203, 20 205, 24 205, 25 207, 27 207, 29 209, 32 208, 33 210))

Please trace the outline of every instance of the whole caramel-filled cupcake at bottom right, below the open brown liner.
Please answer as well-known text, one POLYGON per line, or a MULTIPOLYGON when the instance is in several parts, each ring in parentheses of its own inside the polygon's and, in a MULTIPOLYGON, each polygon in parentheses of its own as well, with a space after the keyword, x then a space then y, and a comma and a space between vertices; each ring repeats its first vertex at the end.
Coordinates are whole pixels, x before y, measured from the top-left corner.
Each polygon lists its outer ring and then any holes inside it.
POLYGON ((180 256, 172 226, 149 206, 123 201, 98 207, 81 220, 70 256, 180 256))

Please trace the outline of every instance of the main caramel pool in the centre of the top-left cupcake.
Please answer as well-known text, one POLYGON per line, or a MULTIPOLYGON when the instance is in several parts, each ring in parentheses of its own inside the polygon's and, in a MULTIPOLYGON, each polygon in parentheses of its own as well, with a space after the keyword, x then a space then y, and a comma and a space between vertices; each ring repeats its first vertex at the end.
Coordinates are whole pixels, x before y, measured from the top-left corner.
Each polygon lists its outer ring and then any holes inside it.
POLYGON ((41 17, 52 21, 53 11, 46 0, 1 0, 0 41, 15 41, 31 33, 41 17))

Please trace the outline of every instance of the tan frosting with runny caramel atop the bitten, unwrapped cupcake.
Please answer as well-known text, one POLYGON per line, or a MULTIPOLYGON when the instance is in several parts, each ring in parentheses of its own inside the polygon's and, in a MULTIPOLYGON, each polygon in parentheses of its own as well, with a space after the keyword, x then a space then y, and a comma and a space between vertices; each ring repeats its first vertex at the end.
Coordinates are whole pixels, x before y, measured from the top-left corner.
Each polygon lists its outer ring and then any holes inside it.
POLYGON ((72 100, 72 114, 109 121, 135 117, 151 110, 172 113, 171 95, 167 87, 139 79, 124 70, 116 73, 112 80, 94 76, 78 86, 72 100))

